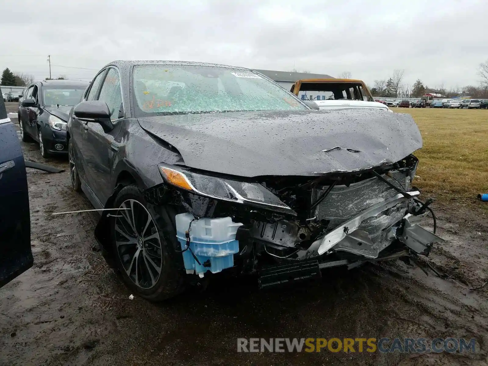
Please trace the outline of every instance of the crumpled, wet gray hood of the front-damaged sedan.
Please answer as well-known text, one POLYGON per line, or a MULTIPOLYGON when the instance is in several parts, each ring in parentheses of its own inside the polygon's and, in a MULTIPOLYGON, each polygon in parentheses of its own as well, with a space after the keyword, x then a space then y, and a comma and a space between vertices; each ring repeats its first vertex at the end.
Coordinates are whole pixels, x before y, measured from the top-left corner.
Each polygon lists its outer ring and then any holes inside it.
POLYGON ((422 147, 410 115, 365 108, 138 120, 144 130, 176 147, 185 165, 242 177, 363 170, 397 162, 422 147))

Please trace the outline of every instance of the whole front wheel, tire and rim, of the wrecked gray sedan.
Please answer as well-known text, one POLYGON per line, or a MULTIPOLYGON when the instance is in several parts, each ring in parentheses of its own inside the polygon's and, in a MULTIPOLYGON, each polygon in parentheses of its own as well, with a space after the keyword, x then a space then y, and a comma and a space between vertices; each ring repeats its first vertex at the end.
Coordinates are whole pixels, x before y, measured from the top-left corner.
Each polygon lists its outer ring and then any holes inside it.
POLYGON ((117 217, 110 221, 112 248, 125 284, 139 296, 155 302, 181 293, 184 277, 172 258, 172 254, 179 254, 173 249, 179 243, 176 232, 169 228, 172 224, 166 223, 146 203, 135 184, 121 189, 114 208, 120 210, 115 211, 117 217))

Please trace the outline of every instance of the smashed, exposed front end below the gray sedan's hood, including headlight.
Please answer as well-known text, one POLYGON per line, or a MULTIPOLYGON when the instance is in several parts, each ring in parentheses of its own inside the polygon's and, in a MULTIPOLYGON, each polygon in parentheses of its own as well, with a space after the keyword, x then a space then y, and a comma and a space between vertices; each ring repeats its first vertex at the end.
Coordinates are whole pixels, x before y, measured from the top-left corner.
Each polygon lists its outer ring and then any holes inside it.
MULTIPOLYGON (((146 199, 184 207, 186 214, 191 214, 181 224, 188 229, 180 228, 178 236, 183 251, 191 252, 185 257, 187 273, 195 270, 203 277, 207 270, 216 273, 235 267, 241 273, 258 271, 265 286, 288 282, 290 274, 292 278, 314 277, 324 267, 353 267, 409 252, 428 255, 432 243, 443 240, 418 225, 431 210, 431 201, 421 202, 417 198, 420 192, 412 187, 417 163, 409 155, 397 163, 364 171, 318 177, 265 176, 254 182, 201 179, 198 173, 160 166, 171 184, 147 190, 146 199), (181 182, 187 184, 184 190, 173 187, 181 188, 181 182), (193 249, 190 245, 192 223, 217 218, 231 218, 236 226, 235 236, 225 242, 236 241, 235 249, 214 254, 233 256, 227 264, 217 264, 212 255, 207 256, 216 246, 202 239, 205 233, 192 239, 196 243, 193 249), (204 245, 210 246, 203 249, 204 245), (187 263, 193 260, 197 264, 189 267, 187 263)), ((194 230, 211 232, 211 224, 207 220, 203 228, 194 226, 194 230)))

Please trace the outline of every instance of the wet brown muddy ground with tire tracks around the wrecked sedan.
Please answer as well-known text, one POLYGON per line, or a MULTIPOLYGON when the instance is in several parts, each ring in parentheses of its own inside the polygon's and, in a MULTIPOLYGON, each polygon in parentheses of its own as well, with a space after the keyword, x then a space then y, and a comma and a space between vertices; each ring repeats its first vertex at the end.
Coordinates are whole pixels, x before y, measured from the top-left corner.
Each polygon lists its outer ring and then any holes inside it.
MULTIPOLYGON (((9 106, 12 108, 12 106, 9 106)), ((14 108, 15 110, 15 108, 14 108)), ((12 111, 12 110, 11 110, 12 111)), ((26 159, 44 161, 36 143, 26 159)), ((452 280, 402 261, 328 270, 318 283, 260 292, 217 277, 206 292, 152 304, 96 251, 97 214, 67 171, 28 169, 34 266, 0 290, 0 365, 488 365, 488 224, 483 211, 437 206, 430 260, 452 280), (476 338, 476 353, 237 353, 236 339, 476 338)), ((430 221, 427 224, 431 224, 430 221)))

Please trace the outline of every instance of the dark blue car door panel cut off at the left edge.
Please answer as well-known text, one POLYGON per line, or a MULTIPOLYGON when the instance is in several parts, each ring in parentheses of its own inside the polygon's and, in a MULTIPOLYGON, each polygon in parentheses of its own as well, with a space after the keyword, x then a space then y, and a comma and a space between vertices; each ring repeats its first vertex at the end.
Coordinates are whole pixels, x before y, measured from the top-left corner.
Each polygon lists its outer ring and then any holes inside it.
POLYGON ((29 192, 17 132, 0 99, 0 287, 32 266, 29 192))

